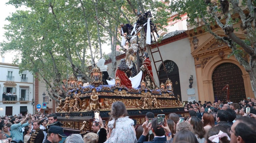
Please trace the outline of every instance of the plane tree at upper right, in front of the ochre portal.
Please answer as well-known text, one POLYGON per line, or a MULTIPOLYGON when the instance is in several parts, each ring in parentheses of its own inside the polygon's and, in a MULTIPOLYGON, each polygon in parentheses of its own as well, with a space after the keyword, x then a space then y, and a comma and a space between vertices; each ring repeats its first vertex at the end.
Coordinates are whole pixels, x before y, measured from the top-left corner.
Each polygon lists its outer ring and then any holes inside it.
POLYGON ((187 13, 189 17, 187 21, 191 26, 199 26, 199 23, 194 19, 200 18, 206 32, 213 34, 217 40, 227 43, 232 49, 230 56, 234 55, 249 73, 251 86, 256 97, 255 0, 171 0, 169 8, 173 12, 177 12, 174 19, 180 19, 182 14, 187 13), (222 14, 217 15, 218 13, 222 14), (239 17, 234 17, 236 14, 239 17), (241 23, 241 26, 234 26, 236 23, 241 23), (211 25, 220 26, 226 36, 221 37, 213 32, 211 25), (241 39, 235 34, 239 28, 246 31, 246 39, 241 39), (249 56, 248 59, 247 55, 249 56))

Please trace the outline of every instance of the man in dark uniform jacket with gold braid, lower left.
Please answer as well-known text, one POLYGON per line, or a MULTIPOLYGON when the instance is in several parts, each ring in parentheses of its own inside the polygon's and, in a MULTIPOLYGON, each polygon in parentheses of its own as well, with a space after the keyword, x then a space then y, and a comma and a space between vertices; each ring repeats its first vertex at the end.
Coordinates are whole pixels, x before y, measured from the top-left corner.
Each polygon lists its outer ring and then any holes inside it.
POLYGON ((33 122, 33 130, 35 130, 35 131, 31 135, 31 137, 29 139, 29 143, 43 142, 44 134, 43 134, 43 131, 40 129, 40 120, 35 120, 33 122))

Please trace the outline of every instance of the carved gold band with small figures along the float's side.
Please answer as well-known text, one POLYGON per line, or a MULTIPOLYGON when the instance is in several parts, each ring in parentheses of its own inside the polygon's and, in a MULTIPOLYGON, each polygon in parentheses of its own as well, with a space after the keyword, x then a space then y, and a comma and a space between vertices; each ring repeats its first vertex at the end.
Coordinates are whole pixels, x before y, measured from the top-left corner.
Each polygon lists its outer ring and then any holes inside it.
MULTIPOLYGON (((88 87, 83 87, 79 90, 79 93, 76 92, 78 88, 76 88, 76 90, 70 91, 71 95, 67 96, 65 100, 59 104, 57 107, 57 112, 87 112, 96 110, 106 111, 111 110, 111 105, 115 101, 122 101, 126 105, 127 110, 159 109, 181 106, 180 103, 175 100, 176 97, 172 95, 172 92, 161 92, 160 89, 142 90, 127 89, 126 87, 103 88, 103 86, 101 91, 98 92, 96 92, 95 88, 93 90, 90 89, 92 92, 88 91, 89 89, 90 88, 88 87), (107 90, 112 92, 106 92, 107 90), (101 98, 101 96, 105 97, 101 98), (82 97, 83 99, 81 99, 82 97), (99 100, 101 102, 99 102, 99 100)), ((69 116, 65 116, 66 118, 69 118, 69 116)))

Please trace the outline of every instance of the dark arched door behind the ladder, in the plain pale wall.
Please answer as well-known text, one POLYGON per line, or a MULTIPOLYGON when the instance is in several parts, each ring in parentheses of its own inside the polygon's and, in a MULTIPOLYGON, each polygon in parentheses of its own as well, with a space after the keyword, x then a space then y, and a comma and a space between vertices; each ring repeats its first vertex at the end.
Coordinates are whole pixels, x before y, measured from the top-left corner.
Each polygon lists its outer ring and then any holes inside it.
MULTIPOLYGON (((180 75, 179 75, 179 68, 177 64, 171 60, 167 60, 164 62, 164 65, 165 65, 168 77, 172 82, 174 96, 177 97, 177 95, 179 94, 181 97, 180 75)), ((162 69, 164 69, 163 65, 161 65, 159 70, 162 70, 162 69)), ((164 71, 159 71, 159 78, 164 79, 164 80, 159 80, 159 83, 161 84, 163 82, 165 84, 167 77, 164 71)))

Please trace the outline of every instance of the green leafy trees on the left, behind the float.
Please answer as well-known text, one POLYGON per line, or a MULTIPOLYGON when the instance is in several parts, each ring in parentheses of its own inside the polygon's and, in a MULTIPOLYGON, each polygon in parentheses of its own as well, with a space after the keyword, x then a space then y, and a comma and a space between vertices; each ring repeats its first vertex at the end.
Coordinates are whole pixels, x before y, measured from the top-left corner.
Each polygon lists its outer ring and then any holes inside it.
MULTIPOLYGON (((47 88, 60 86, 67 74, 78 71, 84 80, 88 79, 88 63, 99 58, 96 8, 98 19, 104 24, 99 27, 101 44, 118 38, 120 22, 130 23, 137 8, 151 11, 154 23, 161 25, 159 29, 167 25, 170 14, 168 6, 158 0, 130 0, 130 4, 126 0, 10 0, 8 4, 25 6, 27 10, 6 18, 10 24, 4 27, 7 32, 6 41, 0 43, 2 54, 17 51, 22 60, 21 72, 38 73, 47 88)), ((114 53, 116 43, 111 44, 114 53)))

